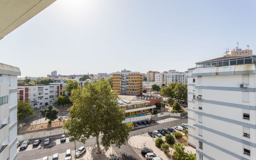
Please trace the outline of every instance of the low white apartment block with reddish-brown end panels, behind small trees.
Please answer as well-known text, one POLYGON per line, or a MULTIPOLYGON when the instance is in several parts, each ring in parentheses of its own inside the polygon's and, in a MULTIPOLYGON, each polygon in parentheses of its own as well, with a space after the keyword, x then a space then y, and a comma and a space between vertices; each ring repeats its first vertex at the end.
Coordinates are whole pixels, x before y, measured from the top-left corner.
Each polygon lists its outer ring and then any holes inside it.
POLYGON ((58 83, 18 86, 17 100, 28 100, 33 108, 56 103, 64 85, 58 83))

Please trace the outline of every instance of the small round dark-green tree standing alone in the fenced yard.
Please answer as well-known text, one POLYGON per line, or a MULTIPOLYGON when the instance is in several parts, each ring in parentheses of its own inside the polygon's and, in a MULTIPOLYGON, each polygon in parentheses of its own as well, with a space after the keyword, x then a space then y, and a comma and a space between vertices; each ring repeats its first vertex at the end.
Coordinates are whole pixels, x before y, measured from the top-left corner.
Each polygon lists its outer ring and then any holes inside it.
POLYGON ((45 109, 41 109, 40 113, 42 116, 46 119, 48 119, 48 123, 52 123, 53 120, 56 120, 58 118, 59 110, 55 108, 52 104, 47 106, 45 109))

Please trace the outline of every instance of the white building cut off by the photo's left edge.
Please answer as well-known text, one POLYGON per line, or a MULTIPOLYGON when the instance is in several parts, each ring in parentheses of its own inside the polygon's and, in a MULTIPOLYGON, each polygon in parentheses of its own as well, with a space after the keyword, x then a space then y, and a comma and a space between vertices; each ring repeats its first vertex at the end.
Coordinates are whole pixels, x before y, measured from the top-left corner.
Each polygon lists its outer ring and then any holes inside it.
POLYGON ((17 157, 17 76, 20 69, 0 63, 0 159, 17 157))

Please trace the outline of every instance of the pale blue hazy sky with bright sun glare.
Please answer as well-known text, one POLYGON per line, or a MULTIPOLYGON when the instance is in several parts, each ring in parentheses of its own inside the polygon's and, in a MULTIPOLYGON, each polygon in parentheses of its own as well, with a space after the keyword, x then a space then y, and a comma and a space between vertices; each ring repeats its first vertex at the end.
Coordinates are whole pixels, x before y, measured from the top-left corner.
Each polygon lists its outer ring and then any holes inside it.
POLYGON ((185 71, 226 47, 256 52, 254 0, 57 0, 0 40, 22 76, 185 71))

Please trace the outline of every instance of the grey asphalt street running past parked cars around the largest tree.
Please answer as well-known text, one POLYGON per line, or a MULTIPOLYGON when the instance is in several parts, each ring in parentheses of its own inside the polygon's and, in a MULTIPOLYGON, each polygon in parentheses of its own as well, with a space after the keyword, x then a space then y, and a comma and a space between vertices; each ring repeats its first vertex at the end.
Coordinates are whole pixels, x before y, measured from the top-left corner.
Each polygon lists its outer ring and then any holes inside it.
MULTIPOLYGON (((148 127, 146 128, 133 130, 132 132, 130 132, 130 136, 144 134, 147 133, 148 130, 154 131, 158 130, 158 128, 173 127, 177 124, 182 123, 188 123, 188 119, 184 118, 156 125, 148 125, 148 127)), ((77 142, 76 148, 79 148, 80 146, 85 146, 87 148, 86 150, 88 150, 88 147, 91 147, 91 145, 95 145, 95 140, 96 138, 92 137, 86 141, 86 144, 77 142)), ((18 152, 17 160, 34 160, 42 158, 44 156, 52 156, 55 153, 64 153, 67 149, 74 150, 74 142, 66 142, 48 147, 34 148, 32 150, 23 150, 18 152)), ((134 149, 129 144, 123 145, 121 148, 114 147, 114 150, 121 160, 141 160, 140 156, 134 151, 134 149)))

